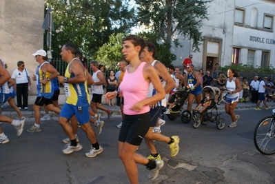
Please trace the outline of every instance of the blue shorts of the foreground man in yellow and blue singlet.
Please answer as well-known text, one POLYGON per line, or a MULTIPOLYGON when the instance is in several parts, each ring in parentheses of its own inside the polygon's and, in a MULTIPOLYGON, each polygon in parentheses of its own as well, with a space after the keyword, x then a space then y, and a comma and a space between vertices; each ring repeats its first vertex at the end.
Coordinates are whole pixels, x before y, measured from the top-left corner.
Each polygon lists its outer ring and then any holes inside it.
POLYGON ((79 124, 90 123, 89 107, 90 105, 77 106, 65 103, 59 116, 69 120, 72 116, 76 115, 79 124))

